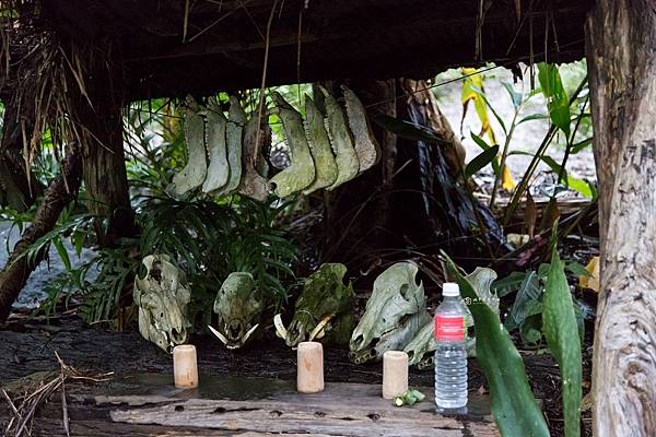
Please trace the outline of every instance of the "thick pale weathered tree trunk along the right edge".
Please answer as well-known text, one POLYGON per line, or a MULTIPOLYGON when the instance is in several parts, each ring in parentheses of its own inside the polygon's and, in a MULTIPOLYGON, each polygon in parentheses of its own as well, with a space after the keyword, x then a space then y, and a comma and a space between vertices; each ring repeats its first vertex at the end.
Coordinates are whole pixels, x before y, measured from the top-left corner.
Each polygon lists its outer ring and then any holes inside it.
POLYGON ((656 435, 656 2, 598 0, 586 24, 601 288, 594 434, 656 435))

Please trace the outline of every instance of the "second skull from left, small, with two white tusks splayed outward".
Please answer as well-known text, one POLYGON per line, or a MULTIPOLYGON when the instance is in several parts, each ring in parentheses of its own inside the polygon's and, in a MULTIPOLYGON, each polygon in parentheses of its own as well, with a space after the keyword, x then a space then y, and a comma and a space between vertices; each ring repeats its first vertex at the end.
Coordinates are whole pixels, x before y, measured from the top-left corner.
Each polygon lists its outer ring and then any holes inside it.
POLYGON ((263 310, 265 303, 253 275, 233 272, 223 281, 214 299, 219 326, 208 328, 227 349, 239 349, 259 327, 263 310))

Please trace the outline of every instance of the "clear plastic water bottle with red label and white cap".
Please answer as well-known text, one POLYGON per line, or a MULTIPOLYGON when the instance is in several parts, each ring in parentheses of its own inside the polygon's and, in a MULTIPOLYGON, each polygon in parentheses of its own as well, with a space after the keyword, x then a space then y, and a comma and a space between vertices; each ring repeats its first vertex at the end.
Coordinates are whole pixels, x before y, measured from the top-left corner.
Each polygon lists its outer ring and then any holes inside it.
POLYGON ((444 283, 442 296, 435 310, 435 403, 438 412, 462 413, 467 406, 467 310, 458 284, 444 283))

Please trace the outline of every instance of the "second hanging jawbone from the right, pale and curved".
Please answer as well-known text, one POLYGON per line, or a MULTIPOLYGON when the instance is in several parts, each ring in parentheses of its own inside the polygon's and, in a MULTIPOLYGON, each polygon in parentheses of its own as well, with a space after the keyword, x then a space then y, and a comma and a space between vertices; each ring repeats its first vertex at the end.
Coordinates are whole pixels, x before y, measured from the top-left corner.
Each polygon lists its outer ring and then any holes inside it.
POLYGON ((333 190, 340 185, 353 179, 358 176, 360 162, 358 153, 353 145, 351 131, 347 126, 347 119, 342 108, 339 106, 335 97, 328 93, 326 88, 319 86, 324 94, 324 103, 326 105, 326 131, 335 152, 335 162, 337 163, 337 180, 327 190, 333 190))

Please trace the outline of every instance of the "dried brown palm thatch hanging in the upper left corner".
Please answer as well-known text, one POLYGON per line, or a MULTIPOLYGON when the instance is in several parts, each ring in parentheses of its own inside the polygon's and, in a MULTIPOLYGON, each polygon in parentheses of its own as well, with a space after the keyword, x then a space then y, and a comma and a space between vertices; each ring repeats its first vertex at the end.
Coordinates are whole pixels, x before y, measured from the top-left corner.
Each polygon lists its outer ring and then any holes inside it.
POLYGON ((89 66, 104 58, 49 28, 44 15, 37 0, 0 1, 0 99, 17 110, 26 174, 44 135, 50 135, 58 158, 66 144, 87 143, 78 113, 85 105, 93 109, 89 66))

